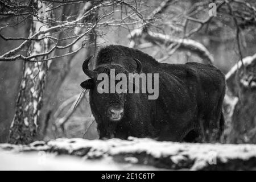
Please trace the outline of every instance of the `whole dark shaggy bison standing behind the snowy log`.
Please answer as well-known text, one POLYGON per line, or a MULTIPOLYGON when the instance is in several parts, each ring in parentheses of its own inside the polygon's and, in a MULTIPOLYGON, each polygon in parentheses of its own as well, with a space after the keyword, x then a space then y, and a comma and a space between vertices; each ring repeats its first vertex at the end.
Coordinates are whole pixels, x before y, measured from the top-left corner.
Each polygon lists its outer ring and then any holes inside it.
POLYGON ((137 49, 124 46, 102 48, 96 68, 82 69, 90 79, 81 83, 89 89, 89 101, 102 138, 129 136, 158 140, 218 141, 224 129, 222 102, 225 76, 213 65, 159 63, 137 49), (97 75, 115 73, 158 73, 159 97, 148 93, 98 93, 97 75))

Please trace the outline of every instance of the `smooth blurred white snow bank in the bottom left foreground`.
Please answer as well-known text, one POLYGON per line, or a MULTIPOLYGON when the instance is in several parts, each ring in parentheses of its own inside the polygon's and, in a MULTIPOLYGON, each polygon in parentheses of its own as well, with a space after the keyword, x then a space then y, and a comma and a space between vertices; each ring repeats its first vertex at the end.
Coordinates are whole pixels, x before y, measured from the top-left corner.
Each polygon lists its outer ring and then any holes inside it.
MULTIPOLYGON (((2 153, 2 152, 1 152, 2 153)), ((53 154, 10 154, 0 155, 0 170, 118 170, 116 164, 105 162, 84 162, 74 156, 59 156, 53 154)))

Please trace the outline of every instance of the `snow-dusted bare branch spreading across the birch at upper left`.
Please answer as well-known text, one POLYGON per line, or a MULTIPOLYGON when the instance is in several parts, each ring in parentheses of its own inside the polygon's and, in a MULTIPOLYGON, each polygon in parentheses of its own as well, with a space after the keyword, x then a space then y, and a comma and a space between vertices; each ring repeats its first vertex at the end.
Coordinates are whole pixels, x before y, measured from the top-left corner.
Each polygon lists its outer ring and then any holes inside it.
MULTIPOLYGON (((53 1, 51 1, 52 3, 53 1)), ((84 1, 56 1, 56 3, 59 3, 59 5, 55 7, 49 7, 46 11, 49 12, 57 7, 64 6, 64 5, 69 5, 69 4, 74 4, 74 3, 82 3, 84 1)), ((27 5, 21 6, 21 7, 27 7, 27 5)), ((39 18, 36 16, 40 22, 42 22, 44 25, 39 29, 38 32, 36 32, 34 35, 31 35, 28 38, 10 38, 10 37, 5 37, 3 35, 0 35, 0 37, 6 41, 9 40, 24 40, 18 47, 11 49, 3 55, 0 56, 0 61, 15 61, 16 59, 22 59, 26 61, 47 61, 49 59, 55 59, 59 58, 60 56, 50 56, 51 58, 47 59, 42 59, 43 56, 49 55, 55 51, 55 49, 66 49, 69 47, 72 47, 75 45, 80 39, 84 38, 86 35, 89 34, 90 31, 94 30, 94 28, 97 27, 105 27, 105 26, 119 26, 119 27, 124 27, 128 25, 133 25, 139 23, 141 20, 143 20, 142 15, 138 12, 137 8, 134 8, 130 4, 123 2, 123 1, 101 1, 100 3, 94 3, 93 6, 90 6, 88 10, 86 10, 81 16, 79 16, 77 19, 72 20, 72 21, 56 21, 55 19, 47 19, 47 18, 39 18), (90 23, 84 23, 84 19, 86 19, 89 15, 93 15, 95 11, 97 11, 98 8, 100 7, 108 7, 108 6, 113 6, 113 5, 125 5, 129 7, 131 10, 133 10, 133 13, 130 13, 127 15, 124 19, 122 20, 105 20, 104 22, 100 22, 104 18, 107 18, 108 16, 112 15, 115 12, 118 11, 110 11, 110 13, 106 13, 102 15, 101 17, 98 17, 97 19, 94 20, 94 22, 90 23), (140 17, 140 19, 135 19, 134 16, 137 15, 140 17), (134 19, 133 22, 124 22, 125 20, 128 19, 134 19), (119 22, 118 22, 119 21, 119 22), (120 23, 122 22, 122 23, 120 23), (49 28, 44 28, 44 26, 48 23, 54 23, 55 26, 49 27, 49 28), (67 39, 73 39, 71 43, 68 43, 65 46, 58 46, 56 42, 60 42, 58 38, 53 36, 53 34, 56 34, 57 32, 60 31, 65 31, 65 30, 75 30, 76 28, 87 28, 85 32, 83 32, 80 35, 74 35, 68 38, 63 38, 62 40, 67 40, 67 39), (47 34, 47 35, 46 35, 47 34), (40 36, 40 39, 38 37, 40 36), (19 51, 21 51, 24 47, 26 47, 28 44, 30 44, 32 41, 43 41, 45 39, 51 39, 52 41, 55 41, 55 45, 51 47, 50 50, 44 53, 40 53, 38 55, 33 55, 33 56, 23 56, 23 55, 16 55, 19 51), (39 58, 39 60, 35 60, 36 58, 39 58), (40 59, 41 58, 41 59, 40 59)), ((7 27, 7 26, 5 26, 7 27)), ((4 28, 4 27, 1 27, 4 28)), ((82 47, 81 47, 82 48, 82 47)), ((81 48, 77 49, 80 50, 81 48)), ((77 51, 69 52, 63 56, 71 55, 72 53, 75 53, 77 51)))

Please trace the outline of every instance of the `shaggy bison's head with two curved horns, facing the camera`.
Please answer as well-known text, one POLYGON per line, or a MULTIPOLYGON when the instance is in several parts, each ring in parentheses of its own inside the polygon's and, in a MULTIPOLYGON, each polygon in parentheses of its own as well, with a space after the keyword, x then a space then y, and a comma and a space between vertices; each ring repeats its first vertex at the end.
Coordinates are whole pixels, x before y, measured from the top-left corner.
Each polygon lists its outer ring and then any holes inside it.
MULTIPOLYGON (((125 115, 125 94, 126 93, 99 93, 98 86, 101 80, 97 77, 100 73, 106 73, 109 77, 110 85, 110 70, 114 69, 115 75, 124 73, 128 76, 129 72, 120 64, 103 64, 99 65, 93 71, 88 68, 88 62, 92 56, 88 57, 82 64, 82 70, 90 78, 81 83, 82 88, 90 90, 90 106, 92 113, 96 118, 96 122, 114 123, 120 121, 125 115)), ((134 72, 141 73, 141 62, 134 59, 137 63, 137 69, 134 72)), ((117 81, 115 82, 117 84, 117 81)), ((110 89, 110 88, 108 88, 110 89)), ((98 123, 99 124, 99 123, 98 123)))

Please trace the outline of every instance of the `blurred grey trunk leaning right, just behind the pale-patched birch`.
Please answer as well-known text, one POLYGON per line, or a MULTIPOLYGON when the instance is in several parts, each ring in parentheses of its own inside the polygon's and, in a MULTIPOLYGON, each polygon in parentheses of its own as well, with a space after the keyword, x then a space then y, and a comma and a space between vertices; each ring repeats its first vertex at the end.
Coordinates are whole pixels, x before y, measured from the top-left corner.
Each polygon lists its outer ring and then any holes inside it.
MULTIPOLYGON (((55 15, 57 17, 61 16, 61 21, 67 20, 67 17, 73 17, 70 20, 75 20, 77 18, 77 10, 81 10, 82 5, 75 4, 75 5, 66 5, 63 6, 62 10, 55 11, 55 15)), ((61 31, 59 34, 59 39, 63 39, 69 35, 69 32, 61 31)), ((72 36, 69 35, 69 36, 72 36)), ((65 46, 69 44, 70 40, 61 41, 58 46, 65 46)), ((75 44, 76 46, 76 44, 75 44)), ((73 46, 74 47, 74 46, 73 46)), ((60 56, 72 51, 69 49, 59 49, 55 51, 55 55, 60 56)), ((51 64, 47 74, 47 84, 45 89, 45 97, 44 97, 44 106, 42 107, 42 115, 40 116, 40 124, 42 125, 40 130, 40 138, 44 138, 47 134, 47 130, 49 131, 49 137, 52 138, 52 135, 56 135, 52 133, 51 127, 52 122, 55 120, 53 118, 53 114, 57 110, 57 106, 59 106, 59 101, 57 100, 57 94, 59 93, 60 87, 63 84, 66 76, 68 75, 71 69, 71 61, 75 55, 61 57, 60 59, 56 59, 51 64)))

